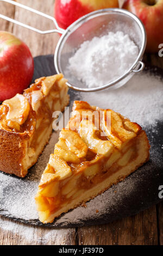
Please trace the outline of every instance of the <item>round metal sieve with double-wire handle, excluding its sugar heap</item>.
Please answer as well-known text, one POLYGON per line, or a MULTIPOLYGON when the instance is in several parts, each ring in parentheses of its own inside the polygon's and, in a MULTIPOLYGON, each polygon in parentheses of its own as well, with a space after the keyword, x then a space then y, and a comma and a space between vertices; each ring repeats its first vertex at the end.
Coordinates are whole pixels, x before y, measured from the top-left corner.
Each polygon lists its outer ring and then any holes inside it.
POLYGON ((57 72, 62 73, 67 78, 67 86, 74 90, 82 92, 95 92, 105 88, 118 88, 123 86, 131 78, 131 76, 142 71, 145 67, 145 64, 141 61, 146 48, 145 28, 139 18, 127 10, 113 8, 93 11, 92 13, 81 17, 79 20, 72 23, 72 25, 66 30, 64 30, 58 26, 57 21, 52 16, 43 14, 40 11, 34 10, 26 5, 11 0, 0 1, 11 3, 23 9, 32 11, 33 13, 46 17, 54 22, 56 27, 55 29, 41 31, 0 14, 0 17, 4 20, 31 29, 32 31, 40 34, 48 34, 53 32, 62 34, 57 47, 55 48, 54 65, 57 72), (69 58, 73 56, 74 52, 77 51, 84 41, 91 40, 94 36, 102 36, 108 34, 108 32, 115 33, 117 31, 122 31, 124 34, 128 34, 130 39, 134 41, 139 48, 139 54, 135 59, 135 62, 130 66, 129 70, 125 74, 108 84, 104 84, 101 87, 86 88, 82 81, 79 81, 77 77, 74 77, 70 73, 66 72, 69 58))

